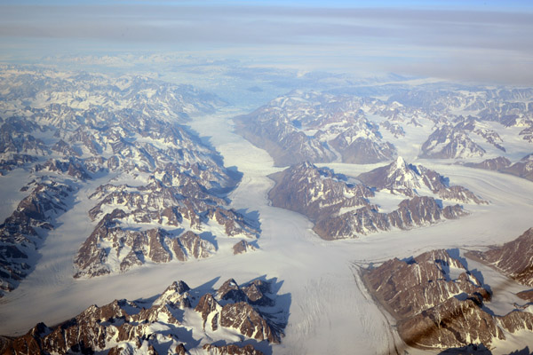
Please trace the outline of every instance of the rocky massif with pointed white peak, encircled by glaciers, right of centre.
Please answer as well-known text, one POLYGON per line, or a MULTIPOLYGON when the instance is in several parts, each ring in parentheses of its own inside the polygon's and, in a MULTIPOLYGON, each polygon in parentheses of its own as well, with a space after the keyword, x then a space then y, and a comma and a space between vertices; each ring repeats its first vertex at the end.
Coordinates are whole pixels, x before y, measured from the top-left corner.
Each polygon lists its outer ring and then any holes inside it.
POLYGON ((449 186, 446 179, 433 170, 408 165, 401 157, 358 177, 371 185, 347 183, 346 177, 317 168, 310 162, 294 165, 271 177, 275 181, 268 193, 272 204, 309 217, 314 222, 314 232, 326 240, 431 225, 467 214, 458 204, 443 206, 435 197, 453 203, 487 203, 463 186, 449 186), (419 187, 422 186, 435 197, 421 195, 419 187), (379 206, 371 200, 375 192, 381 190, 401 194, 405 199, 399 202, 397 209, 380 212, 379 206))

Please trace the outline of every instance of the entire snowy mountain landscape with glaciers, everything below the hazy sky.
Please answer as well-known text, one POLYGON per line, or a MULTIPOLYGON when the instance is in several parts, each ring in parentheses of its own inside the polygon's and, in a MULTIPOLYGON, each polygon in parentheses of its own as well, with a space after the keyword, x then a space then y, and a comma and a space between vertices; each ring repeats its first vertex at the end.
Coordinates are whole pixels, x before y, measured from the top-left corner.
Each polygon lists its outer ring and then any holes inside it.
POLYGON ((0 66, 0 353, 533 346, 533 91, 153 76, 0 66))

